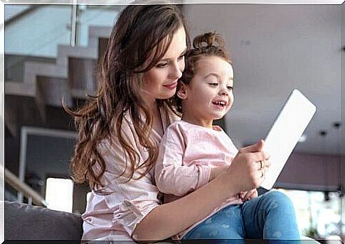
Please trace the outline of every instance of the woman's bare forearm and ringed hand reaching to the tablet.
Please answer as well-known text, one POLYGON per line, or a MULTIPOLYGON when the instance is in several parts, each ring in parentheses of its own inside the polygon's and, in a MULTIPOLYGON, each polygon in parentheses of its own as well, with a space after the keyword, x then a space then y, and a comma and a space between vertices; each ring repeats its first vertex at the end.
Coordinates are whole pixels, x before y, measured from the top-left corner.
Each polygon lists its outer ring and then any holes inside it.
MULTIPOLYGON (((263 141, 239 150, 228 170, 196 191, 169 204, 153 209, 134 229, 134 240, 164 240, 184 231, 208 216, 229 196, 257 188, 261 177, 260 160, 267 160, 262 152, 263 141)), ((269 167, 269 163, 267 163, 269 167)))

